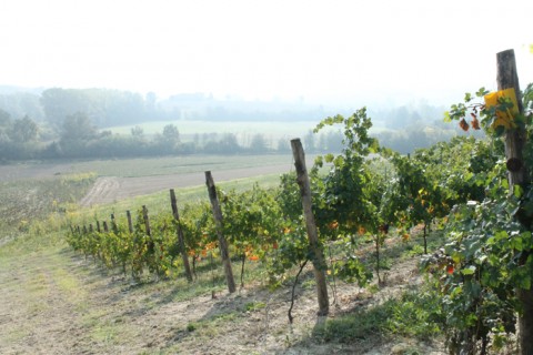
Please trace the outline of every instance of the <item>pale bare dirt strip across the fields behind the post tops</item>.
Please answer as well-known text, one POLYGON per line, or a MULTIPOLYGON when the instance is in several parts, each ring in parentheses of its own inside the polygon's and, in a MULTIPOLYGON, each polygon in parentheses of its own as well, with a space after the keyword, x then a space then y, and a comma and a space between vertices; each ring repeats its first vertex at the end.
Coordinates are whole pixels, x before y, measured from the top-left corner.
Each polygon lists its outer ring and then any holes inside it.
MULTIPOLYGON (((213 172, 217 182, 290 172, 291 164, 221 170, 213 172)), ((99 178, 89 193, 80 201, 81 206, 112 203, 133 196, 155 193, 175 187, 198 186, 205 183, 203 172, 155 175, 142 178, 99 178)))

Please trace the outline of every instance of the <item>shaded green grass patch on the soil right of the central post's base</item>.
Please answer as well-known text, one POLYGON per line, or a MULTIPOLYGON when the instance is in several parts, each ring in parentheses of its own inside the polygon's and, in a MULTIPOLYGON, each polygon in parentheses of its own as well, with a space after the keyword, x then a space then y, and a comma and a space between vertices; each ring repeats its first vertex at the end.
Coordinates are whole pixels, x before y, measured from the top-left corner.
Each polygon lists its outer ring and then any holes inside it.
POLYGON ((429 341, 441 336, 443 315, 432 292, 408 291, 399 298, 328 320, 316 326, 313 336, 323 342, 352 343, 375 338, 408 336, 429 341))

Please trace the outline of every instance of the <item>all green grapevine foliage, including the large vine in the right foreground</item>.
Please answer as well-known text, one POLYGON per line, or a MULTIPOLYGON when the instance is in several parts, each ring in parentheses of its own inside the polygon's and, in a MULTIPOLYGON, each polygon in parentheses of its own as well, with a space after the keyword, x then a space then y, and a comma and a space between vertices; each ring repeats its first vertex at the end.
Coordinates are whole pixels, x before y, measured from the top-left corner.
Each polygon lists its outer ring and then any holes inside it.
MULTIPOLYGON (((412 156, 369 135, 364 108, 328 118, 314 130, 340 126, 343 135, 341 153, 319 156, 309 172, 320 251, 329 248, 330 255, 323 272, 360 285, 375 275, 381 283, 389 232, 409 240, 420 226, 422 265, 440 295, 453 354, 497 351, 516 334, 517 320, 521 332, 533 333, 524 316, 533 310, 533 85, 516 95, 517 103, 503 95, 487 106, 482 102, 487 94, 484 89, 466 94, 446 114, 464 131, 484 130, 485 139, 454 138, 412 156), (515 132, 523 151, 509 159, 515 132), (515 184, 510 176, 517 171, 527 179, 515 184), (446 243, 431 250, 428 233, 435 225, 445 231, 446 243)), ((184 204, 181 219, 174 213, 150 220, 143 206, 134 223, 113 219, 103 232, 100 225, 72 227, 68 240, 74 250, 140 277, 145 271, 164 276, 187 270, 189 257, 194 273, 199 261, 221 253, 222 233, 241 262, 241 285, 247 261, 263 263, 276 284, 318 257, 308 242, 301 192, 295 174, 288 173, 278 189, 219 191, 221 229, 208 202, 184 204)), ((530 354, 531 338, 522 339, 522 353, 530 354)))

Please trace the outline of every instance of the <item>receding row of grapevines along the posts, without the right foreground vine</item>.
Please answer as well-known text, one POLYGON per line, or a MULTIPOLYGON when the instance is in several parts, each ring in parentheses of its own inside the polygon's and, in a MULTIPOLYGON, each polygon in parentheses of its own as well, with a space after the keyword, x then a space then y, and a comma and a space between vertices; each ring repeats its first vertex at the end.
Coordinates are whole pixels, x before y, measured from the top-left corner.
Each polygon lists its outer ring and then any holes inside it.
MULTIPOLYGON (((455 138, 404 156, 380 146, 369 135, 372 123, 365 109, 349 118, 328 118, 315 132, 330 125, 341 126, 344 149, 340 154, 319 156, 310 170, 320 243, 323 250, 329 248, 329 277, 362 286, 374 275, 382 282, 380 270, 385 265, 380 251, 390 231, 409 240, 411 229, 421 225, 421 248, 430 255, 434 252, 426 243, 431 226, 441 227, 450 221, 454 206, 483 201, 490 192, 487 181, 504 184, 500 162, 503 144, 499 140, 455 138), (370 247, 372 253, 362 253, 362 247, 370 247)), ((222 233, 232 261, 240 263, 241 286, 247 262, 262 263, 270 284, 276 285, 289 271, 295 266, 301 270, 313 260, 295 173, 283 174, 276 189, 254 186, 245 192, 218 193, 222 233)), ((110 267, 121 267, 135 278, 145 273, 187 276, 180 257, 184 253, 195 276, 199 263, 220 255, 215 221, 209 201, 184 203, 179 214, 175 219, 169 207, 169 213, 149 216, 142 206, 133 216, 130 212, 113 215, 109 225, 95 219, 72 226, 68 241, 76 251, 110 267)), ((463 267, 459 258, 432 265, 444 276, 461 275, 463 267)))

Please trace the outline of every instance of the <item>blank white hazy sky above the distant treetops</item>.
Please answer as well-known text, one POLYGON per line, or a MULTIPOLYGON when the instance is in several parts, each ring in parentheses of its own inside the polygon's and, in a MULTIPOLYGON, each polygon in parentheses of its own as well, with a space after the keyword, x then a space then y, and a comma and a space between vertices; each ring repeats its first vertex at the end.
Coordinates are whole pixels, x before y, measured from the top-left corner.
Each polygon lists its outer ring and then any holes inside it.
POLYGON ((0 84, 305 102, 460 100, 514 49, 533 1, 2 0, 0 84))

